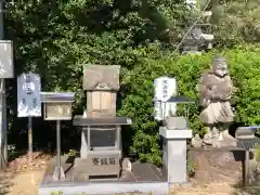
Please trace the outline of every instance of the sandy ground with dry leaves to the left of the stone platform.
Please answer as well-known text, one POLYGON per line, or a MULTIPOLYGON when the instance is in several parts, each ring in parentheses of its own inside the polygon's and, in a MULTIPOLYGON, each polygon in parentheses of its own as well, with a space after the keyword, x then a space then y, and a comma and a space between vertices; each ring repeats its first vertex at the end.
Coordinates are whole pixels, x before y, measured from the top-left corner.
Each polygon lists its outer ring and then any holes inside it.
POLYGON ((32 162, 27 155, 10 161, 8 169, 0 172, 0 195, 37 195, 50 158, 36 152, 32 162))

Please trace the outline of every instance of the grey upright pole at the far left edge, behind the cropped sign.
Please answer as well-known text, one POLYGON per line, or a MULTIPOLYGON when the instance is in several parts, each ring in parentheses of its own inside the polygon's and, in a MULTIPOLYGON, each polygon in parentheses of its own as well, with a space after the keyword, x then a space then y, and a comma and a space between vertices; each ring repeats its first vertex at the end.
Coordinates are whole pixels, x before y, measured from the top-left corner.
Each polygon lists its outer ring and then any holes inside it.
MULTIPOLYGON (((0 0, 0 40, 3 40, 3 1, 0 0)), ((8 162, 8 128, 6 128, 5 82, 0 82, 0 168, 4 169, 8 162)))

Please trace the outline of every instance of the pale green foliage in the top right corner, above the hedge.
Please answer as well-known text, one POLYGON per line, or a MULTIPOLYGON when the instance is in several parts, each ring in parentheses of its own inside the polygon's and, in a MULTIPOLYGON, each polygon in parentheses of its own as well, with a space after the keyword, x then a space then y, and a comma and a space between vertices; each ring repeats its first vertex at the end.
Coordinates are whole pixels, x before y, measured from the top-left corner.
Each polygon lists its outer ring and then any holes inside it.
POLYGON ((260 41, 259 0, 218 0, 212 6, 219 46, 260 41))

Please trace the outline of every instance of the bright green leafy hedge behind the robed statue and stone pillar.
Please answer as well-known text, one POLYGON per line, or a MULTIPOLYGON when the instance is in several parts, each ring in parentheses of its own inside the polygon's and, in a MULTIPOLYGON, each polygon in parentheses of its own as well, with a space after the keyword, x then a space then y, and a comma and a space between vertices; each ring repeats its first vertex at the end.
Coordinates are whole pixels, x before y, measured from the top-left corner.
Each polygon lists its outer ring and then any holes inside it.
MULTIPOLYGON (((132 70, 122 76, 122 107, 119 115, 133 119, 131 154, 139 159, 161 164, 158 123, 153 115, 153 81, 159 76, 176 77, 178 92, 198 101, 196 84, 202 72, 209 68, 212 57, 222 54, 230 64, 231 77, 238 88, 234 95, 236 121, 246 125, 260 122, 260 49, 257 47, 237 47, 233 50, 213 51, 196 56, 164 56, 144 58, 132 70)), ((182 112, 182 109, 181 109, 182 112)), ((204 133, 198 120, 198 104, 191 107, 190 126, 195 132, 204 133)))

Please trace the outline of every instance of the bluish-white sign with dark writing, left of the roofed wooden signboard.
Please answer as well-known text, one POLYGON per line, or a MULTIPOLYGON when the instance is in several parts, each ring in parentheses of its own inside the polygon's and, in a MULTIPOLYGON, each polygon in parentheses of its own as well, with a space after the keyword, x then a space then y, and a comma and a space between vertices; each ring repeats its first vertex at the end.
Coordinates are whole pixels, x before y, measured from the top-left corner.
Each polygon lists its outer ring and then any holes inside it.
POLYGON ((37 74, 22 74, 17 78, 17 116, 41 116, 41 82, 37 74))

